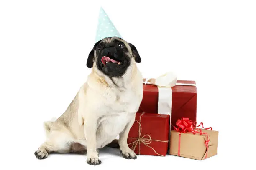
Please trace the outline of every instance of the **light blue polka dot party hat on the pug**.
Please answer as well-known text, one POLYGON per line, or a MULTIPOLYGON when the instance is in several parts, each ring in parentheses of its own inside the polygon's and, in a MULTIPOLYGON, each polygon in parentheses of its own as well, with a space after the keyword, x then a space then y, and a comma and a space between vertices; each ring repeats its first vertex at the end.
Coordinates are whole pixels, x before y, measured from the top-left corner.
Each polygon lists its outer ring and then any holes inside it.
POLYGON ((108 18, 108 15, 106 14, 106 12, 103 10, 102 7, 100 7, 100 15, 98 20, 98 28, 97 28, 95 42, 98 42, 106 37, 122 38, 118 30, 115 28, 115 25, 108 18))

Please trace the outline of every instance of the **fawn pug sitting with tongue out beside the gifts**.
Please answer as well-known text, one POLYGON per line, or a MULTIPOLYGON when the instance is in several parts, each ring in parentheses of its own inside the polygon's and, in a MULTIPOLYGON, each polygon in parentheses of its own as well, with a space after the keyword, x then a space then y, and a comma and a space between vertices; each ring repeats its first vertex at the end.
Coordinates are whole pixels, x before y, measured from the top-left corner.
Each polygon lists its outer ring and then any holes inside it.
POLYGON ((87 152, 87 163, 101 163, 98 151, 119 135, 119 149, 126 159, 136 159, 128 147, 128 133, 143 97, 143 77, 136 66, 141 62, 136 47, 118 37, 98 41, 91 50, 87 67, 92 72, 67 110, 55 121, 44 122, 46 141, 34 153, 87 152))

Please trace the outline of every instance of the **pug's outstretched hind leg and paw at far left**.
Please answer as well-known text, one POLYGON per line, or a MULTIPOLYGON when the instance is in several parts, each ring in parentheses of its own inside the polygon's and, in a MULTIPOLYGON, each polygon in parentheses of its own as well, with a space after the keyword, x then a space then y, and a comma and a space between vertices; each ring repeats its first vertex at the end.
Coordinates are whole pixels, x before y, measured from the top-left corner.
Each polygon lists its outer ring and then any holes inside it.
POLYGON ((69 153, 73 142, 72 135, 66 131, 54 130, 48 139, 35 152, 36 158, 45 159, 51 152, 69 153))

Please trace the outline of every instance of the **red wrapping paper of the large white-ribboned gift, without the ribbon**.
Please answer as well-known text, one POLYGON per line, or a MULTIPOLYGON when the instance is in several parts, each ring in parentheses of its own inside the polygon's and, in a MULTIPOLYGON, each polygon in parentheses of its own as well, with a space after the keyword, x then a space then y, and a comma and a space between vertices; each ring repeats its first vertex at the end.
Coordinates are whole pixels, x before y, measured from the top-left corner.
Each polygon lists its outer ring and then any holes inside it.
MULTIPOLYGON (((188 117, 190 120, 196 121, 197 116, 197 88, 192 85, 179 85, 179 83, 195 84, 195 81, 177 80, 177 85, 168 87, 172 88, 172 108, 170 108, 172 125, 175 125, 180 117, 188 117)), ((158 100, 158 87, 144 84, 143 99, 138 112, 157 113, 158 100)))

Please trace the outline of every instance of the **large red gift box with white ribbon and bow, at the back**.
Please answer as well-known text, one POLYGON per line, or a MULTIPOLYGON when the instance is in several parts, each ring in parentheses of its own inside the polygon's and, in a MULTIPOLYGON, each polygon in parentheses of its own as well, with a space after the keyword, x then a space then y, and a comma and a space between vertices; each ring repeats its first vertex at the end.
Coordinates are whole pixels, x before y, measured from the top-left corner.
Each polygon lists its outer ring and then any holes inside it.
POLYGON ((177 80, 176 75, 169 72, 156 79, 144 79, 144 82, 143 99, 138 112, 168 114, 171 124, 175 124, 180 117, 196 121, 195 81, 177 80))

